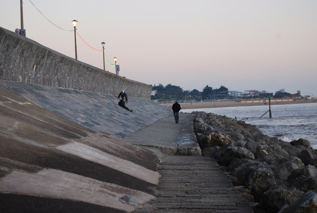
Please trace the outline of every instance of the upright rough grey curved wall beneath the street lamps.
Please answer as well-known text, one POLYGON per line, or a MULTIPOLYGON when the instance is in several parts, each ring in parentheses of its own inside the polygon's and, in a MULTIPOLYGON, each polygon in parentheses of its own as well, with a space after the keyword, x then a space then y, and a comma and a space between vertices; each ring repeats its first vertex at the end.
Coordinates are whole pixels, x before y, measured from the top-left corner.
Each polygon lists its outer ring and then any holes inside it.
POLYGON ((152 87, 57 53, 0 27, 0 79, 150 99, 152 87))

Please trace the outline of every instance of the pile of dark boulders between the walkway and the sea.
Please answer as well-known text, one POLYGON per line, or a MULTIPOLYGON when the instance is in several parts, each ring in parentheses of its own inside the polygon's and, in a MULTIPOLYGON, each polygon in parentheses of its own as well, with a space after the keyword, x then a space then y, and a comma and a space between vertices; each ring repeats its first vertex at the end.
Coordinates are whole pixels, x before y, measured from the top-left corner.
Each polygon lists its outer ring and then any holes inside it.
POLYGON ((235 186, 249 189, 263 212, 317 211, 317 151, 309 141, 284 142, 243 120, 193 113, 203 156, 224 166, 235 186))

